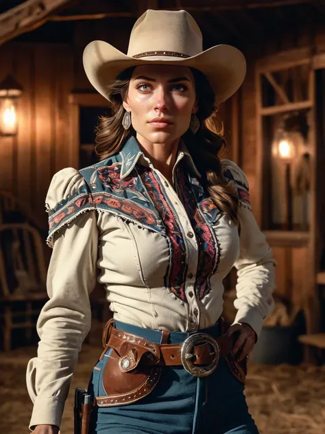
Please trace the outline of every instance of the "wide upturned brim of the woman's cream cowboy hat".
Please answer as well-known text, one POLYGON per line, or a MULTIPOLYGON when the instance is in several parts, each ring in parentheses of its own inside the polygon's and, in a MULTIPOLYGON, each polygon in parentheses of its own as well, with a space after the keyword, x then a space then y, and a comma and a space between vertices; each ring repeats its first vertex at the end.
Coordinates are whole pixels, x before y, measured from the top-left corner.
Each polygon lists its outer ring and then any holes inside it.
POLYGON ((84 70, 93 87, 108 99, 107 86, 128 69, 150 62, 158 65, 181 65, 199 69, 208 78, 215 102, 230 98, 241 86, 246 73, 246 61, 239 49, 231 45, 216 45, 189 58, 150 56, 142 59, 123 54, 104 41, 93 41, 84 49, 84 70))

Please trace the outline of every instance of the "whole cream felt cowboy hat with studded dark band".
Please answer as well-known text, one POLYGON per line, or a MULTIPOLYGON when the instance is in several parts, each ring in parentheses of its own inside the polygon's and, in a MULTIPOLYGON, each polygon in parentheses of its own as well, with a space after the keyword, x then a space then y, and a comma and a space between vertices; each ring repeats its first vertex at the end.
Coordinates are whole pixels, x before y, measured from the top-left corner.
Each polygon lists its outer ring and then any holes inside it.
POLYGON ((149 62, 199 69, 208 78, 219 104, 237 91, 245 78, 246 62, 239 49, 216 45, 202 49, 202 33, 185 10, 147 10, 134 24, 128 54, 104 41, 84 49, 84 69, 93 87, 107 97, 107 85, 123 70, 149 62))

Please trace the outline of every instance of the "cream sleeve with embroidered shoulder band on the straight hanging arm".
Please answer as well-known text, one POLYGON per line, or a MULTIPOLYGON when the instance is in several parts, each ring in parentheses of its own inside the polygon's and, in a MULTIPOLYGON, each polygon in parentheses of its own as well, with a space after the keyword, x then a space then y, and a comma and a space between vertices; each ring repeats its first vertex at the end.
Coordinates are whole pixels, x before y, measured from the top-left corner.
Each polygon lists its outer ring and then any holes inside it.
POLYGON ((27 366, 27 389, 34 402, 30 428, 60 426, 73 369, 91 326, 89 293, 96 280, 97 219, 91 193, 73 168, 53 176, 46 198, 53 248, 45 304, 37 323, 37 357, 27 366))

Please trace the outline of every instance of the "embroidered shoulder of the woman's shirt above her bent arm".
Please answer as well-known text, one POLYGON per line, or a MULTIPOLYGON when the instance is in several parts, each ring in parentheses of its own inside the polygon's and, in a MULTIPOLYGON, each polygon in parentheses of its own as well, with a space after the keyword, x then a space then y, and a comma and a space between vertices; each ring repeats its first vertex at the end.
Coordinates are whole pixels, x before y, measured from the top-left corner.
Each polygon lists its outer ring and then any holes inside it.
POLYGON ((230 160, 221 160, 221 170, 224 177, 236 185, 239 205, 252 210, 248 179, 243 170, 234 161, 230 160))

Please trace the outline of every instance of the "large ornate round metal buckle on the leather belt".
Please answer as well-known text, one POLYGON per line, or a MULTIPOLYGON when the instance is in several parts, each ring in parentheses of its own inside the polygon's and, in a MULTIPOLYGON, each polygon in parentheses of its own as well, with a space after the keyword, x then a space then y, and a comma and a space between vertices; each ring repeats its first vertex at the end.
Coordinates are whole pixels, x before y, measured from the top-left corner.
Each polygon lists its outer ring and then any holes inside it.
POLYGON ((205 333, 195 333, 185 339, 182 345, 182 350, 180 352, 180 360, 182 361, 184 369, 186 369, 187 372, 189 372, 195 377, 206 377, 212 374, 219 363, 219 357, 219 345, 212 336, 209 336, 205 333), (202 345, 204 343, 209 343, 211 345, 211 347, 213 348, 213 353, 215 354, 215 358, 209 365, 194 365, 194 363, 192 362, 192 359, 195 358, 195 354, 193 354, 192 352, 193 347, 197 345, 202 345))

